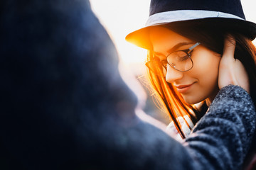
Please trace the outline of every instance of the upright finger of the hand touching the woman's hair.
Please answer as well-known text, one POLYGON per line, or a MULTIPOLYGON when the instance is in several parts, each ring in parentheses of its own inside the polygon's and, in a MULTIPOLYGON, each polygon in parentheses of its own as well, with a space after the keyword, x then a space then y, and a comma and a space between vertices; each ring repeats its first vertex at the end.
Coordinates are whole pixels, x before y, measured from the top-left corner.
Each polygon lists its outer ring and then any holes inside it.
POLYGON ((223 57, 234 58, 235 54, 235 39, 231 35, 227 35, 224 40, 223 57))

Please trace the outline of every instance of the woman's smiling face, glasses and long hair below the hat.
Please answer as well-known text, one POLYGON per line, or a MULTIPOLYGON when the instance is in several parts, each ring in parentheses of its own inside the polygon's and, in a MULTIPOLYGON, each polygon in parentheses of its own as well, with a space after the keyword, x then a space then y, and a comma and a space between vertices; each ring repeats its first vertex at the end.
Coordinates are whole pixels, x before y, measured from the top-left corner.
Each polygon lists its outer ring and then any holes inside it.
MULTIPOLYGON (((149 67, 149 77, 154 88, 166 104, 178 132, 184 138, 186 134, 180 127, 179 120, 181 119, 176 119, 178 115, 181 117, 188 115, 192 124, 195 124, 206 113, 206 108, 218 93, 219 85, 222 86, 221 81, 218 84, 218 73, 226 35, 229 34, 230 38, 235 38, 237 42, 236 45, 233 45, 235 42, 230 45, 233 46, 233 50, 236 46, 235 58, 238 59, 237 61, 241 61, 247 66, 245 69, 249 73, 250 87, 256 85, 255 47, 250 40, 239 33, 229 32, 221 26, 220 28, 215 26, 215 29, 212 30, 208 21, 202 21, 200 24, 194 21, 180 23, 181 26, 177 25, 158 26, 150 29, 149 38, 154 50, 149 50, 146 66, 149 67), (157 70, 159 66, 164 72, 157 70), (171 96, 169 96, 170 94, 171 96), (191 105, 201 101, 204 102, 201 108, 191 105), (175 107, 179 110, 175 111, 175 107)), ((238 79, 240 85, 244 86, 248 92, 250 91, 253 101, 255 101, 255 89, 250 89, 249 84, 244 84, 247 83, 247 79, 244 78, 238 79)), ((191 126, 193 125, 190 125, 190 128, 192 128, 191 126)))

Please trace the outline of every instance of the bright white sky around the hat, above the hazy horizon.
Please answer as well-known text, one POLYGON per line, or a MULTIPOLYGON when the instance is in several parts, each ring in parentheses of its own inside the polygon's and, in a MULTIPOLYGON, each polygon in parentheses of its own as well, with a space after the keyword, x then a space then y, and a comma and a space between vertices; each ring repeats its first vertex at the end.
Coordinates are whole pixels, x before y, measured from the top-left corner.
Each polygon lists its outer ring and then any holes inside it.
MULTIPOLYGON (((241 0, 247 21, 256 23, 255 0, 241 0)), ((90 0, 92 11, 114 41, 119 57, 127 65, 146 60, 146 50, 125 41, 125 36, 142 28, 149 16, 150 0, 90 0)), ((136 69, 136 68, 134 68, 136 69)))

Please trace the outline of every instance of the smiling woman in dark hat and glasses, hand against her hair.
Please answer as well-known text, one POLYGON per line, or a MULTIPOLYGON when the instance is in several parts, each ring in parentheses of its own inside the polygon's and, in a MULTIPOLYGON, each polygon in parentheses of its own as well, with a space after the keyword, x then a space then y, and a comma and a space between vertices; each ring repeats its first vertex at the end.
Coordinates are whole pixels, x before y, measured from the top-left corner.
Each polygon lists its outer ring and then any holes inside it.
POLYGON ((186 138, 228 84, 242 86, 256 104, 255 35, 240 1, 152 0, 146 27, 126 39, 149 50, 149 79, 173 121, 169 127, 186 138))

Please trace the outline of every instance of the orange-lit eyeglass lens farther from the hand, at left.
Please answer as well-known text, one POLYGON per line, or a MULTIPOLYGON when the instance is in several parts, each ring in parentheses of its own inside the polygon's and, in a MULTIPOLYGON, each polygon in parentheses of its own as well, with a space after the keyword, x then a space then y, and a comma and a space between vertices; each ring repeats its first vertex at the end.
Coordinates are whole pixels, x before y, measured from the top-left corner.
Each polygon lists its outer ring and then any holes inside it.
POLYGON ((164 67, 159 60, 146 62, 146 67, 148 67, 149 70, 157 76, 165 77, 166 75, 166 67, 164 67))

